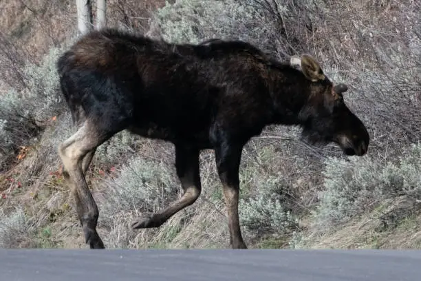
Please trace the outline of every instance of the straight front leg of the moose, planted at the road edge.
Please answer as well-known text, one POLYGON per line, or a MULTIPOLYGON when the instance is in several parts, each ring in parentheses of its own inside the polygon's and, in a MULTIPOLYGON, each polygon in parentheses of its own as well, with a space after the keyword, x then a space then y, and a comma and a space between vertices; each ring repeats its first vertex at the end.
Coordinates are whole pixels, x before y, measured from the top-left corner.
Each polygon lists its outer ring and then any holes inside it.
POLYGON ((243 145, 223 143, 215 149, 215 160, 219 178, 222 182, 226 208, 228 211, 228 227, 230 244, 233 249, 247 249, 241 236, 238 216, 239 200, 239 165, 243 145))

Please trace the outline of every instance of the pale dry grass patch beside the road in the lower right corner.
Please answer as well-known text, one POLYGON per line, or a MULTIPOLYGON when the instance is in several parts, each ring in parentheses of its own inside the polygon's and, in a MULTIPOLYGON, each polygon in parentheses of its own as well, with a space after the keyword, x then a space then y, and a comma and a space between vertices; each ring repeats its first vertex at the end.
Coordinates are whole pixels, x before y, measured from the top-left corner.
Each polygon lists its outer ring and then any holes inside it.
POLYGON ((413 209, 407 198, 382 202, 375 211, 334 227, 327 233, 301 234, 296 248, 421 249, 421 205, 413 209), (407 205, 409 208, 405 208, 407 205), (409 211, 410 210, 410 211, 409 211))

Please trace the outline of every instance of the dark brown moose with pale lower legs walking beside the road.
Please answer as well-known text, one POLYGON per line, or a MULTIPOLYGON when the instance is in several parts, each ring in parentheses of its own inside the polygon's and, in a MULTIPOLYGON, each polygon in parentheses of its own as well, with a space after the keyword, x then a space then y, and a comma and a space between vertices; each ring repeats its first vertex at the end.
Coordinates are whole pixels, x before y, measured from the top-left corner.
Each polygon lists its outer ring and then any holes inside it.
POLYGON ((133 229, 160 227, 201 194, 199 153, 213 149, 228 213, 230 247, 247 249, 239 223, 241 152, 266 125, 298 125, 312 143, 336 143, 363 156, 369 134, 310 55, 280 62, 250 43, 175 44, 113 28, 80 37, 57 61, 61 92, 77 125, 58 146, 63 175, 91 249, 105 248, 85 174, 96 148, 128 130, 175 147, 182 196, 133 229))

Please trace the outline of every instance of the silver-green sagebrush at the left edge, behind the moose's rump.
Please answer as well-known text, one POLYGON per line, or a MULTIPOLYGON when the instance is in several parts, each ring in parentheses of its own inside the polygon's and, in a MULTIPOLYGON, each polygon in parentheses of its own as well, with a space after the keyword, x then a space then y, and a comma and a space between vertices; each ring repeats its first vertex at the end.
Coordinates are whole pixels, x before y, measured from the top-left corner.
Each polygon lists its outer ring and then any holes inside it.
POLYGON ((0 100, 0 167, 19 145, 28 145, 43 130, 43 124, 63 112, 58 89, 56 60, 61 54, 52 48, 39 65, 29 64, 22 70, 25 85, 21 91, 10 89, 0 100))

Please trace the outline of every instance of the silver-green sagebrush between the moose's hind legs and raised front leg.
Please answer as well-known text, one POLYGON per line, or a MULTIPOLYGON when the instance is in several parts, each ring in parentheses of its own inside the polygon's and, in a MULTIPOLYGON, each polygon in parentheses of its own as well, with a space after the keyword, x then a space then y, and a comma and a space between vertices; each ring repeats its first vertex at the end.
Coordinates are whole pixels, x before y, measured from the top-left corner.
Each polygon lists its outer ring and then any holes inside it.
POLYGON ((118 178, 105 182, 105 194, 99 202, 100 224, 109 229, 107 244, 125 248, 136 232, 132 220, 144 212, 157 212, 177 198, 179 185, 163 163, 132 157, 118 178))

